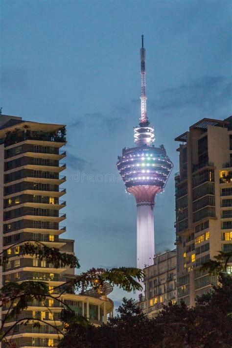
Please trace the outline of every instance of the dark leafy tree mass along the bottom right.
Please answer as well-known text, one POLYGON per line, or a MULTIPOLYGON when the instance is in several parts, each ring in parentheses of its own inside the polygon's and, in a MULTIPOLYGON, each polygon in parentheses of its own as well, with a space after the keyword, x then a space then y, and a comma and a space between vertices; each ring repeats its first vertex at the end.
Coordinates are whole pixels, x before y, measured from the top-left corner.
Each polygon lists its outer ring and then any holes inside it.
POLYGON ((208 266, 204 266, 208 270, 210 265, 216 265, 216 270, 223 272, 217 285, 197 298, 194 308, 188 308, 184 302, 170 302, 157 318, 148 319, 135 300, 124 298, 116 317, 101 327, 80 324, 75 313, 68 317, 63 311, 61 319, 66 333, 59 348, 231 348, 232 277, 225 273, 230 257, 228 253, 219 253, 218 264, 208 261, 208 266))

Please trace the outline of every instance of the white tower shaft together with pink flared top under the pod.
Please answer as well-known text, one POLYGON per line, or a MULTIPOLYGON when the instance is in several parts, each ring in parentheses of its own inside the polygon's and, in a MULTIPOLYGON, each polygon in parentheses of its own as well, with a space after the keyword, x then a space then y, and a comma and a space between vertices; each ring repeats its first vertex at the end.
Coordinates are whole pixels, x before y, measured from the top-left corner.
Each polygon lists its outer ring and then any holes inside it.
POLYGON ((137 203, 137 267, 143 269, 153 264, 155 254, 154 241, 154 202, 155 195, 160 192, 158 186, 133 186, 127 189, 137 203))

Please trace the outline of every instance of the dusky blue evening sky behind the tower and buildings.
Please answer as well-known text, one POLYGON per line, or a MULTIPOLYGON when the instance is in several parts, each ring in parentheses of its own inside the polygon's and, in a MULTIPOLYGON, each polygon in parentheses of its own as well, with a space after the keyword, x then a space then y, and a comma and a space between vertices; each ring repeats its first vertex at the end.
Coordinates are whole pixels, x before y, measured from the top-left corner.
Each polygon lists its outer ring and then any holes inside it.
MULTIPOLYGON (((75 239, 81 271, 136 265, 136 205, 116 161, 139 123, 141 34, 155 145, 174 163, 156 199, 160 252, 175 240, 174 138, 203 117, 231 115, 231 24, 225 0, 1 1, 0 106, 67 124, 64 237, 75 239)), ((121 296, 114 292, 116 304, 121 296)))

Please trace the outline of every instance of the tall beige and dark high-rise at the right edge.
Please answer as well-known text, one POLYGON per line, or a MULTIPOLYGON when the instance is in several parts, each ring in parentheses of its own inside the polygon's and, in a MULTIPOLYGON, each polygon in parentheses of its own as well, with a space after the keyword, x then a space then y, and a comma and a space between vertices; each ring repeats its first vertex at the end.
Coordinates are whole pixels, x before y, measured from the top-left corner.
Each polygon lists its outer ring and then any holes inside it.
POLYGON ((175 140, 178 298, 193 306, 216 281, 200 266, 232 250, 232 116, 203 118, 175 140))

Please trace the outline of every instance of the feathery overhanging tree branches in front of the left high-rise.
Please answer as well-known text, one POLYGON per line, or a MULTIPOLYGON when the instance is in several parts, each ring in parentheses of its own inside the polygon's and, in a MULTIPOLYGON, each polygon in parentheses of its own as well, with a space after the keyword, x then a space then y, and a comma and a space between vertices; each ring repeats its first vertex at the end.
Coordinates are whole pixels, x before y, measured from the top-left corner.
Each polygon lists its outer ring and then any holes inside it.
MULTIPOLYGON (((66 266, 69 266, 70 268, 80 267, 79 261, 74 255, 61 253, 57 248, 49 248, 41 242, 34 241, 33 243, 32 241, 27 241, 24 244, 16 243, 13 246, 19 244, 19 255, 30 255, 41 260, 44 259, 46 262, 52 263, 55 268, 66 266)), ((4 264, 8 261, 8 249, 5 249, 2 253, 0 253, 1 266, 4 266, 4 264)), ((136 278, 138 278, 140 281, 142 277, 142 270, 136 268, 120 267, 113 268, 111 270, 92 268, 91 270, 77 275, 74 278, 70 278, 64 284, 54 287, 54 293, 51 293, 48 288, 48 284, 45 281, 26 280, 22 283, 8 282, 0 289, 0 307, 7 310, 6 315, 1 319, 0 323, 0 341, 5 340, 5 337, 9 335, 15 325, 26 325, 33 321, 33 325, 38 326, 40 322, 43 322, 43 320, 35 320, 35 318, 28 316, 18 319, 19 314, 23 313, 23 310, 25 310, 34 300, 43 302, 46 306, 45 301, 47 298, 54 299, 64 305, 64 307, 66 307, 71 314, 72 311, 70 310, 69 306, 60 299, 62 294, 66 292, 74 292, 74 290, 78 289, 85 291, 90 288, 96 290, 98 293, 101 293, 103 291, 102 289, 105 282, 108 282, 111 285, 118 285, 125 291, 141 290, 141 285, 139 282, 137 282, 136 278), (5 324, 10 319, 14 319, 15 323, 5 329, 5 324)), ((83 318, 78 317, 78 321, 83 323, 83 318)), ((62 332, 56 326, 48 323, 46 324, 54 327, 62 334, 62 332)))

